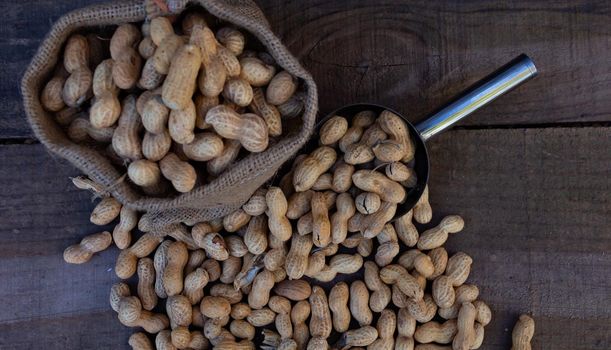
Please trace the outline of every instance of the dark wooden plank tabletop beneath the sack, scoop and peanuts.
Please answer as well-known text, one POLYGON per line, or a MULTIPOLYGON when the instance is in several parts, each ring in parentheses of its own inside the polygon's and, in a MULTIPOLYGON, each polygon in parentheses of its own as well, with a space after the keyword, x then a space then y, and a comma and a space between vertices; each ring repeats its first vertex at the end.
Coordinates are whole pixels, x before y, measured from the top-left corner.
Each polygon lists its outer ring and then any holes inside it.
MULTIPOLYGON (((94 0, 0 3, 0 348, 128 348, 108 307, 111 249, 67 265, 97 231, 78 173, 33 139, 18 84, 51 23, 94 0)), ((611 348, 611 3, 259 1, 312 72, 321 114, 351 102, 418 121, 519 53, 540 76, 430 141, 431 202, 457 213, 451 251, 494 311, 484 349, 518 314, 535 349, 611 348)))

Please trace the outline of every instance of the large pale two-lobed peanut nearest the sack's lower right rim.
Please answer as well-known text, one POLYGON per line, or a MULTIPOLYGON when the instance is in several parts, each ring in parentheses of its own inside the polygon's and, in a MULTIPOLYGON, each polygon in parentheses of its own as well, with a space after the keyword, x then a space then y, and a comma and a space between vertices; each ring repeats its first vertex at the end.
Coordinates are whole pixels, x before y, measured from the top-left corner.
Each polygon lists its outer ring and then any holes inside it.
POLYGON ((239 140, 250 152, 262 152, 269 143, 265 121, 256 114, 239 115, 225 105, 211 108, 206 114, 206 123, 224 138, 239 140))

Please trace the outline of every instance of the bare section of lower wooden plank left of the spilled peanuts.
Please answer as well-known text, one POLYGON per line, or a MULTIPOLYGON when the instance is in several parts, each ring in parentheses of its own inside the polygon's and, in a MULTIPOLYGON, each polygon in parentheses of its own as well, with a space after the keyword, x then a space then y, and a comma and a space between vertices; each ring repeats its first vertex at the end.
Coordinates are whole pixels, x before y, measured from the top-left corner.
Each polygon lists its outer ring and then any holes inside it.
POLYGON ((89 223, 90 195, 70 182, 78 172, 42 145, 4 145, 0 164, 0 348, 125 346, 131 330, 108 304, 117 250, 86 265, 62 258, 65 247, 100 231, 89 223))

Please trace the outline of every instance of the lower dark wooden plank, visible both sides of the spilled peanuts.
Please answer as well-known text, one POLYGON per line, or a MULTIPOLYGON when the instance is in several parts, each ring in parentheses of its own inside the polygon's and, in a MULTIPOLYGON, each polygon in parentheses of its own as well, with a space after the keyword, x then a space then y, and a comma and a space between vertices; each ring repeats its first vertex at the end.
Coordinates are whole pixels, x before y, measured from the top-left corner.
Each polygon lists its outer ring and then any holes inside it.
MULTIPOLYGON (((508 349, 522 312, 535 349, 610 348, 611 128, 459 130, 429 146, 432 224, 463 215, 448 249, 473 256, 469 281, 494 312, 482 348, 508 349)), ((2 146, 0 163, 0 348, 127 349, 107 304, 116 250, 62 261, 97 230, 77 173, 41 145, 2 146)))

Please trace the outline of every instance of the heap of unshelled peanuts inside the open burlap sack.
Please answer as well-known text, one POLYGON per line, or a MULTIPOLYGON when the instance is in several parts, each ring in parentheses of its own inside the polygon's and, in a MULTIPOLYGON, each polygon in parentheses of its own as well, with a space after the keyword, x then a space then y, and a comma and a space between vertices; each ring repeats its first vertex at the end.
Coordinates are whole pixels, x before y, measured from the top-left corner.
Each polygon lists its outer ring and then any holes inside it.
MULTIPOLYGON (((241 153, 263 152, 303 91, 266 52, 246 50, 232 26, 200 12, 180 30, 158 17, 68 38, 40 100, 74 142, 103 152, 148 195, 189 192, 241 153)), ((176 25, 179 27, 179 25, 176 25)), ((256 43, 253 43, 253 48, 256 43)))

